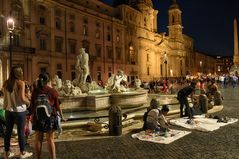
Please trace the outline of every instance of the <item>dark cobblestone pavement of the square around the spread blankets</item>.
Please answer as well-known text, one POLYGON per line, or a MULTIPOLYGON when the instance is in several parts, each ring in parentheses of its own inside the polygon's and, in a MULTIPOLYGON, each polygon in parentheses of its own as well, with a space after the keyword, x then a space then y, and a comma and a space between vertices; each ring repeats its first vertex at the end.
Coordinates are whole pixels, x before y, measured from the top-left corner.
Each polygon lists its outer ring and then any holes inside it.
MULTIPOLYGON (((216 115, 239 118, 239 89, 223 89, 223 111, 216 115)), ((131 138, 132 131, 142 126, 137 123, 124 130, 122 136, 89 133, 82 129, 65 131, 56 140, 58 159, 239 159, 239 122, 213 132, 193 131, 171 144, 157 144, 131 138), (77 130, 77 131, 76 131, 77 130), (129 133, 127 133, 129 132, 129 133)), ((181 129, 175 127, 177 129, 181 129)), ((30 149, 33 150, 32 140, 30 149)), ((48 152, 44 143, 42 159, 48 152)), ((14 146, 13 146, 14 147, 14 146)), ((15 146, 16 147, 16 146, 15 146)), ((16 148, 15 148, 16 149, 16 148)))

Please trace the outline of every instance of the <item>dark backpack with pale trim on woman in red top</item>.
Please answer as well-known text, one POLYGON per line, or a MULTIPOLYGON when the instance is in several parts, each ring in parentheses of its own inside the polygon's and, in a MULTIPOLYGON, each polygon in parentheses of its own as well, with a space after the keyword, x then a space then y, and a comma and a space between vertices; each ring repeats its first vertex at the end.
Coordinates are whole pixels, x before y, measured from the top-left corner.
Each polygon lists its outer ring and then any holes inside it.
POLYGON ((53 108, 49 103, 48 94, 39 94, 36 98, 36 123, 40 131, 51 130, 54 125, 53 108))

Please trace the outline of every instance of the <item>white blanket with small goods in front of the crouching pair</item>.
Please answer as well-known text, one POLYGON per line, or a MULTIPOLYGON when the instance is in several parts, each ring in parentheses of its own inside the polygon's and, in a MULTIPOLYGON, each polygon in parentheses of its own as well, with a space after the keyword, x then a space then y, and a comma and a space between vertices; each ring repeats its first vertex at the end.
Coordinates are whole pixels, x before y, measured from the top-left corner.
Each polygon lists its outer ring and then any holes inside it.
POLYGON ((148 133, 141 131, 136 134, 132 134, 132 138, 137 138, 142 141, 150 141, 161 144, 170 144, 171 142, 182 138, 185 135, 190 134, 190 131, 174 130, 171 129, 166 133, 148 133))

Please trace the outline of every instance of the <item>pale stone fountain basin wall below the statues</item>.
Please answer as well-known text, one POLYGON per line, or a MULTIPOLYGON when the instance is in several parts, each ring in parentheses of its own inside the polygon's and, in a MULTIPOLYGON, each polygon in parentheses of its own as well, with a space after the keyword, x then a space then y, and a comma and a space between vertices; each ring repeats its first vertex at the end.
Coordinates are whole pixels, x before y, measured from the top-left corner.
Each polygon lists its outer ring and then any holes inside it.
POLYGON ((97 93, 77 97, 60 97, 60 100, 61 108, 64 112, 77 112, 108 109, 111 105, 117 105, 122 109, 139 107, 147 103, 147 98, 147 91, 141 90, 112 94, 97 93))

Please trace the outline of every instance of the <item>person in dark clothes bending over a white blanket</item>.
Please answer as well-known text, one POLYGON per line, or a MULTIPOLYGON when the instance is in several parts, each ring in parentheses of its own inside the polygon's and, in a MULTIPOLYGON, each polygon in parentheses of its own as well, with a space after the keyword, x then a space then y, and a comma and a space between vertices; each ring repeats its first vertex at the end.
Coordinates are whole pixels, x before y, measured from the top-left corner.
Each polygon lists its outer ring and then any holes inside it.
POLYGON ((190 98, 194 99, 195 94, 195 86, 196 82, 192 81, 189 86, 186 86, 178 91, 177 99, 180 103, 180 117, 188 116, 191 120, 193 118, 192 111, 190 110, 189 103, 188 103, 188 96, 190 95, 190 98), (183 108, 186 107, 185 114, 183 114, 183 108))

